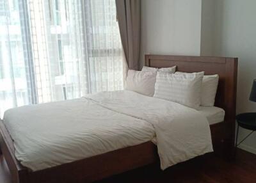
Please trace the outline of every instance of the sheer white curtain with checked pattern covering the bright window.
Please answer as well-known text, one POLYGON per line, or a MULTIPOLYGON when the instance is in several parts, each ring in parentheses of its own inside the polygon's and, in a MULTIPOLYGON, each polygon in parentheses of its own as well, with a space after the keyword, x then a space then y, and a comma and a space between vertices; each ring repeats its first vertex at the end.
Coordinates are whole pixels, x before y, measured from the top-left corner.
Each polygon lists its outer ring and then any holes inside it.
POLYGON ((115 0, 0 1, 0 116, 121 90, 123 73, 115 0))

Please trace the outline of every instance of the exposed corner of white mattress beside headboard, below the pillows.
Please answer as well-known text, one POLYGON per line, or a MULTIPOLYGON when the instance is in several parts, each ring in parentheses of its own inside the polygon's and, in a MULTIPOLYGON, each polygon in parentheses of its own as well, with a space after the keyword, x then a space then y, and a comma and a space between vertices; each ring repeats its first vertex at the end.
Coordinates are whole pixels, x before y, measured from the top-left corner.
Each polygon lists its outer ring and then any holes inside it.
POLYGON ((225 111, 220 107, 200 106, 198 111, 207 118, 210 125, 223 122, 225 117, 225 111))

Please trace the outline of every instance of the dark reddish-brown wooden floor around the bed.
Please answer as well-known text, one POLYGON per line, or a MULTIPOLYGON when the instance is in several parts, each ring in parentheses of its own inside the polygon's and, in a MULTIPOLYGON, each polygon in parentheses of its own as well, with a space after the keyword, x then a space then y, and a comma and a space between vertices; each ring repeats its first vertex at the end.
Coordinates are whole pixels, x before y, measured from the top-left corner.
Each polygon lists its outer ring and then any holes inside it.
MULTIPOLYGON (((10 174, 0 157, 0 182, 10 183, 10 174)), ((165 171, 158 164, 116 175, 97 183, 113 182, 256 182, 256 155, 237 150, 235 161, 225 161, 213 154, 196 157, 165 171)))

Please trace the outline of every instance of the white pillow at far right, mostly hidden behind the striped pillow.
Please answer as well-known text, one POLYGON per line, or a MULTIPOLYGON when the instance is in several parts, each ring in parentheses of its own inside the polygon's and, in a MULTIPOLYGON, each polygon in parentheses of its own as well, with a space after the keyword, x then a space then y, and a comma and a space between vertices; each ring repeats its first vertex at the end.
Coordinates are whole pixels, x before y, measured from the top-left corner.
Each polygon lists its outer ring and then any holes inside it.
MULTIPOLYGON (((191 73, 175 72, 175 74, 191 74, 191 73)), ((218 74, 205 75, 203 77, 201 106, 205 106, 205 107, 214 106, 215 96, 218 88, 218 82, 219 82, 218 74)))

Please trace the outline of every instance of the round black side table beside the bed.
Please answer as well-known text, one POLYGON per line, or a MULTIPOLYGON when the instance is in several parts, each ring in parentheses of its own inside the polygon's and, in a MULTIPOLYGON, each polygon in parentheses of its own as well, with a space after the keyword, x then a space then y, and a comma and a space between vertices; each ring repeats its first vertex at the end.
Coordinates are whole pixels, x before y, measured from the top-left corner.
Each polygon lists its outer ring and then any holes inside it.
POLYGON ((237 131, 236 131, 236 148, 240 145, 246 138, 248 138, 254 131, 256 131, 256 113, 242 113, 236 116, 237 121, 237 131), (243 140, 237 144, 237 137, 239 132, 239 127, 251 130, 243 140))

